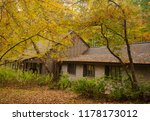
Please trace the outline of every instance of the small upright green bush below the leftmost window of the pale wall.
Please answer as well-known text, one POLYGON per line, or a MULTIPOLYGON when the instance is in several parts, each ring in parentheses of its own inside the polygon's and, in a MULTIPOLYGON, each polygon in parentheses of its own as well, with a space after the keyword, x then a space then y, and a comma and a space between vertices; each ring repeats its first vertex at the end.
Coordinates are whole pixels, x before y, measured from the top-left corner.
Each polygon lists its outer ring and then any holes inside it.
POLYGON ((60 81, 58 82, 58 87, 60 89, 67 89, 71 87, 71 81, 69 80, 69 75, 62 74, 60 77, 60 81))

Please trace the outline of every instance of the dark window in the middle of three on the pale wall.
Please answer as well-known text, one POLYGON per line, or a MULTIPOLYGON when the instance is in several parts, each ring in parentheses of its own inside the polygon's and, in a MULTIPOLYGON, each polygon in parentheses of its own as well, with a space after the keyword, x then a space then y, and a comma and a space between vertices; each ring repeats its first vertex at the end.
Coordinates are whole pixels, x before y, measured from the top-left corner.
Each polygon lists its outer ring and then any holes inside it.
POLYGON ((94 77, 95 76, 95 66, 94 65, 83 65, 83 76, 94 77))

